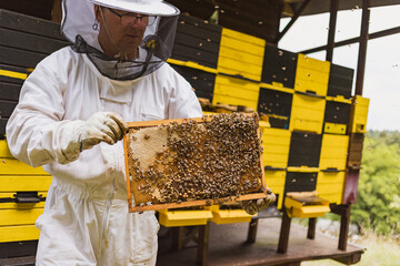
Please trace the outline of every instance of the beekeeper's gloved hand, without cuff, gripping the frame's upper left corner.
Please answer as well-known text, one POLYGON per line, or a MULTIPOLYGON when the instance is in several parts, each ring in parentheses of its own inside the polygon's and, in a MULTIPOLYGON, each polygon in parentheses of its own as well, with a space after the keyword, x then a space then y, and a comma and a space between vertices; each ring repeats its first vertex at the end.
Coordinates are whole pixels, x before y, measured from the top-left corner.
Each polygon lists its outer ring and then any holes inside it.
POLYGON ((128 124, 119 114, 111 112, 94 113, 78 127, 80 151, 91 149, 100 142, 112 145, 122 140, 127 131, 128 124))

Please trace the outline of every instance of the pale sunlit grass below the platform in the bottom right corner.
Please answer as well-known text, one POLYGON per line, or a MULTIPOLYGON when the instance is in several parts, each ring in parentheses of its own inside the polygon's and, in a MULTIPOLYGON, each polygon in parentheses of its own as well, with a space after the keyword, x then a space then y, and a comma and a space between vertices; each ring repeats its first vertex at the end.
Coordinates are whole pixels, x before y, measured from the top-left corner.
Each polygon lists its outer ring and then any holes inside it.
MULTIPOLYGON (((356 242, 357 245, 367 248, 361 255, 361 262, 357 266, 399 266, 400 265, 400 243, 392 238, 379 237, 373 233, 368 233, 356 242)), ((301 266, 339 266, 343 265, 332 259, 304 262, 301 266)))

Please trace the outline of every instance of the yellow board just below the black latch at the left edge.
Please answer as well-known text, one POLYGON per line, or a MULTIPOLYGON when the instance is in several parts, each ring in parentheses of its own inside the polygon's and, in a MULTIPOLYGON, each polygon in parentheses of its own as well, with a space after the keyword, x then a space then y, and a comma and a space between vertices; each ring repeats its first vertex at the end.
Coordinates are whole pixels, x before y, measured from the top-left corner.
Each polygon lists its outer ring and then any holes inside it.
POLYGON ((43 208, 0 209, 0 226, 30 225, 43 213, 43 208))

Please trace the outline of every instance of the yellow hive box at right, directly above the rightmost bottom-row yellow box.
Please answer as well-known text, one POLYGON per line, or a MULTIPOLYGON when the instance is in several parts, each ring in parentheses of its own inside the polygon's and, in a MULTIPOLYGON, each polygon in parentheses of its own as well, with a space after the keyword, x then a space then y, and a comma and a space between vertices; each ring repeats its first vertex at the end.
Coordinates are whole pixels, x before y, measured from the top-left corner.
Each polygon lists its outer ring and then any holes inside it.
POLYGON ((323 134, 319 167, 346 170, 348 149, 348 135, 323 134))

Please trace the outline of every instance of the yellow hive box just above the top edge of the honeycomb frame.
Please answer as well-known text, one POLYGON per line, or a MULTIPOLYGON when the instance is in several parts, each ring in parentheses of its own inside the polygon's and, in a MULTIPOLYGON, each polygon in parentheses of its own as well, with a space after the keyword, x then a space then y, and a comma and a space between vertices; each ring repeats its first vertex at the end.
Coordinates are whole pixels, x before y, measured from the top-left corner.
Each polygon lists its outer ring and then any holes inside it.
POLYGON ((257 110, 259 94, 259 83, 218 74, 212 104, 226 103, 257 110))

